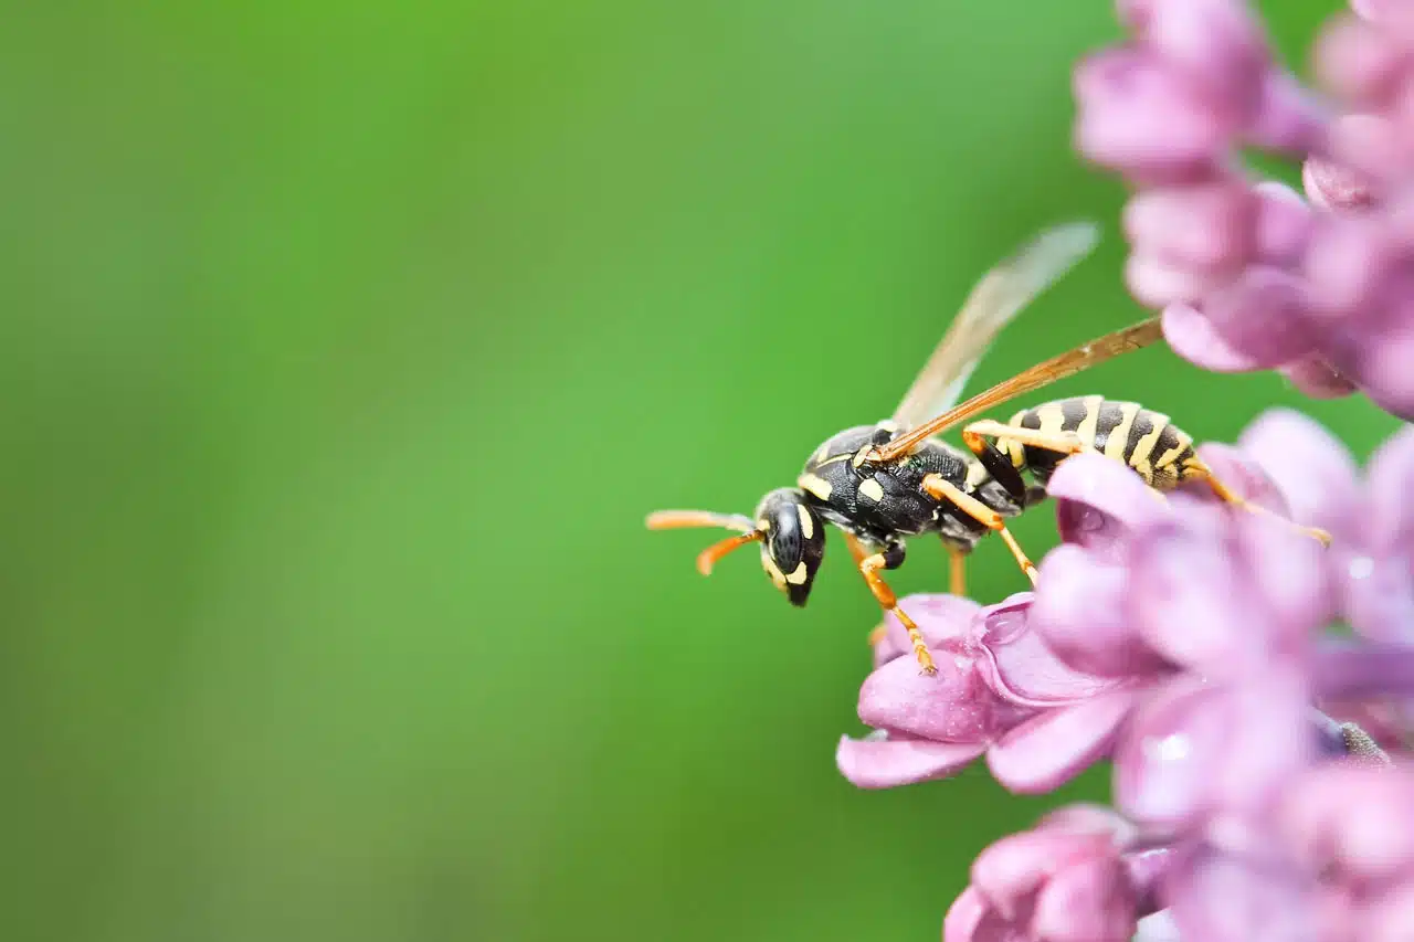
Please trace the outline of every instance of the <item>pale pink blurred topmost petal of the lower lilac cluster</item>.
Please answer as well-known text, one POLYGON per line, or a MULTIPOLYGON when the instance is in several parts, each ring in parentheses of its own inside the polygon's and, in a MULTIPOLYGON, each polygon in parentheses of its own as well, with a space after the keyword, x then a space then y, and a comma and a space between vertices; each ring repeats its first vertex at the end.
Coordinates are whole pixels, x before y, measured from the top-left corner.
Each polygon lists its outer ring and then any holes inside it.
POLYGON ((1360 491, 1350 453, 1301 413, 1268 409, 1247 426, 1237 447, 1277 482, 1294 521, 1339 529, 1357 512, 1360 491))

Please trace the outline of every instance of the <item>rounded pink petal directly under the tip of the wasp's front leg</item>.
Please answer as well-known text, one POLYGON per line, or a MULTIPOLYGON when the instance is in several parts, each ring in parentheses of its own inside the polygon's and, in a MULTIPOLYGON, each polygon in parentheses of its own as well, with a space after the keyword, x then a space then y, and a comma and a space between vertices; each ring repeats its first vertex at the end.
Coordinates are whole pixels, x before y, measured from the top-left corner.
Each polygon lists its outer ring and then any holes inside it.
POLYGON ((936 675, 912 658, 878 668, 860 689, 860 720, 936 743, 988 743, 1027 713, 1003 703, 970 658, 935 651, 936 675))

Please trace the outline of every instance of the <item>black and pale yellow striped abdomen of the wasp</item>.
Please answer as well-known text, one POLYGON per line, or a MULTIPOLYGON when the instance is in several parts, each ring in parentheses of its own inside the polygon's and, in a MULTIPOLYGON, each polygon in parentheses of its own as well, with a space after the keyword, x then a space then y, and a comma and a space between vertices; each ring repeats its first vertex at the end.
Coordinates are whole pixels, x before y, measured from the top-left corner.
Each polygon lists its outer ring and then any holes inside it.
MULTIPOLYGON (((1076 396, 1024 409, 1007 424, 1035 429, 1042 434, 1072 431, 1080 441, 1109 458, 1134 468, 1158 491, 1172 489, 1188 477, 1193 440, 1168 416, 1133 402, 1110 402, 1103 396, 1076 396)), ((1066 455, 1035 446, 998 440, 997 448, 1018 468, 1029 468, 1045 484, 1066 455)))

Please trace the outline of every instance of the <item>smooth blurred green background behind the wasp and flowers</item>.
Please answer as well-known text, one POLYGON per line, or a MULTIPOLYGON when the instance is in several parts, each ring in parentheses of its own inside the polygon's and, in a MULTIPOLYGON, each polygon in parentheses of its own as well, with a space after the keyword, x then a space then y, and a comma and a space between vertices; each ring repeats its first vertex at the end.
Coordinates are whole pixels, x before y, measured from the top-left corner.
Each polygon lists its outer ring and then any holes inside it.
MULTIPOLYGON (((1304 65, 1335 4, 1266 7, 1304 65)), ((1107 240, 976 383, 1141 315, 1069 150, 1117 35, 1099 0, 13 4, 3 938, 935 938, 1103 771, 850 788, 843 543, 796 611, 642 518, 748 512, 885 416, 1042 225, 1107 240)), ((1053 392, 1394 426, 1167 349, 1053 392)), ((1022 586, 984 545, 973 591, 1022 586)))

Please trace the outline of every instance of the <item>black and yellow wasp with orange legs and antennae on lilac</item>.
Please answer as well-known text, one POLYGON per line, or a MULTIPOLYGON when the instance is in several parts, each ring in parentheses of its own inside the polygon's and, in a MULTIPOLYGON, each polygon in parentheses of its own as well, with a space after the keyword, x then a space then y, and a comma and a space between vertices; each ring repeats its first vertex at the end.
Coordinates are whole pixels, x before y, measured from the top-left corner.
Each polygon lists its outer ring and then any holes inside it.
MULTIPOLYGON (((949 554, 950 590, 960 595, 967 554, 983 536, 995 533, 1035 584, 1036 567, 1005 521, 1044 501, 1051 475, 1073 454, 1092 451, 1120 461, 1159 494, 1202 481, 1232 505, 1264 511, 1217 479, 1195 453, 1192 437, 1168 416, 1138 403, 1076 396, 1024 409, 1005 423, 971 421, 984 410, 1152 344, 1162 335, 1158 318, 1082 344, 957 403, 1001 328, 1085 259, 1097 232, 1090 222, 1055 226, 987 272, 894 414, 827 438, 805 463, 796 487, 766 494, 752 516, 659 511, 649 515, 648 526, 735 530, 697 557, 704 576, 732 550, 761 543, 761 564, 771 581, 803 607, 824 559, 826 523, 834 525, 844 532, 880 607, 908 629, 922 670, 935 673, 918 625, 898 607, 881 573, 904 564, 908 537, 937 533, 949 554), (966 450, 937 437, 957 426, 963 426, 966 450)), ((1325 542, 1324 533, 1311 535, 1325 542)))

